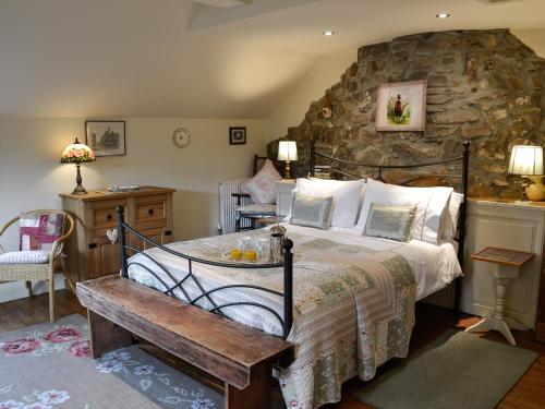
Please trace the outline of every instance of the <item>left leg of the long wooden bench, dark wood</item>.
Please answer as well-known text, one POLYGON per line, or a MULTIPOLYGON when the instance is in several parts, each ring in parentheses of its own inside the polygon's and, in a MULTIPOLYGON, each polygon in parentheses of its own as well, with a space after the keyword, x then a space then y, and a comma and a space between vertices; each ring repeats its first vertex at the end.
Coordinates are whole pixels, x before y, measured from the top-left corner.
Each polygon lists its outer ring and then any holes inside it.
POLYGON ((87 316, 89 320, 93 358, 99 358, 106 352, 129 347, 133 344, 133 335, 129 330, 90 310, 87 310, 87 316))

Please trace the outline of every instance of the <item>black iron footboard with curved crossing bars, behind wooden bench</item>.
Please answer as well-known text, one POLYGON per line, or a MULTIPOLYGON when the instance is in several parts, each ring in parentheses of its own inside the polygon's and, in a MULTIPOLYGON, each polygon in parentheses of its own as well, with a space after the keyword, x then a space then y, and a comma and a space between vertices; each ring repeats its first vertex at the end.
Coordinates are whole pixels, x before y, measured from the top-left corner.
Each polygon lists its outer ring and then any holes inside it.
MULTIPOLYGON (((154 240, 150 240, 149 238, 145 237, 144 234, 140 233, 136 231, 134 228, 128 226, 124 221, 124 209, 123 206, 118 206, 118 237, 119 237, 119 245, 120 245, 120 258, 121 258, 121 276, 124 278, 129 278, 129 268, 132 265, 138 266, 143 269, 145 269, 147 273, 153 275, 164 287, 165 290, 162 291, 165 294, 174 297, 174 290, 179 289, 180 292, 183 294, 185 298, 185 302, 192 305, 196 305, 196 302, 206 299, 210 305, 211 309, 209 310, 211 313, 216 313, 219 315, 223 315, 223 312, 221 309, 228 308, 228 306, 238 306, 238 305, 251 305, 255 306, 265 311, 268 311, 270 314, 272 314, 278 322, 280 323, 282 327, 282 337, 286 339, 288 338, 288 335, 290 334, 291 326, 293 324, 293 253, 291 252, 291 249, 293 248, 293 242, 290 239, 286 239, 283 243, 283 261, 279 263, 266 263, 266 264, 245 264, 245 263, 221 263, 217 261, 210 261, 210 260, 204 260, 204 258, 197 258, 187 254, 183 254, 180 252, 177 252, 172 249, 169 249, 165 245, 161 245, 159 243, 156 243, 154 240), (167 253, 170 253, 172 255, 175 255, 180 258, 184 258, 187 261, 187 273, 185 276, 178 280, 170 274, 170 272, 159 262, 154 260, 149 254, 144 252, 143 250, 136 249, 136 246, 128 245, 126 244, 126 236, 125 234, 132 234, 135 238, 138 238, 144 241, 144 243, 148 243, 153 245, 154 248, 158 248, 167 253), (148 266, 138 263, 138 262, 129 262, 129 256, 126 252, 132 251, 135 254, 142 254, 144 257, 149 260, 157 268, 159 268, 169 279, 172 281, 171 285, 168 285, 165 282, 159 275, 154 272, 152 268, 148 266), (223 267, 223 268, 280 268, 283 267, 283 292, 275 291, 268 288, 264 287, 258 287, 258 286, 252 286, 252 285, 229 285, 229 286, 220 286, 216 287, 213 289, 205 290, 204 287, 202 286, 201 281, 198 280, 198 277, 193 274, 193 263, 198 263, 198 264, 207 264, 216 267, 223 267), (201 293, 197 297, 192 298, 187 291, 183 288, 184 282, 192 281, 201 291, 201 293), (267 305, 263 305, 258 302, 250 302, 250 301, 238 301, 238 302, 229 302, 225 304, 218 304, 214 298, 213 294, 217 293, 222 290, 227 289, 232 289, 232 288, 246 288, 246 289, 253 289, 256 291, 264 291, 268 292, 278 297, 283 298, 283 316, 280 316, 275 310, 267 305)), ((197 305, 198 306, 198 305, 197 305)))

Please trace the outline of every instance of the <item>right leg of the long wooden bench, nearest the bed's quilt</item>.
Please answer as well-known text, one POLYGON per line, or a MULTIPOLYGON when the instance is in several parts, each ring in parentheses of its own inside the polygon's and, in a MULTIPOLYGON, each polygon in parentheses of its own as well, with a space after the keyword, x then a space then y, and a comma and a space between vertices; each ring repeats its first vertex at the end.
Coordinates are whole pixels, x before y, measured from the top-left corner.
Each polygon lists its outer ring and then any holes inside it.
POLYGON ((269 409, 272 365, 264 364, 252 373, 250 385, 238 389, 226 383, 226 409, 269 409))

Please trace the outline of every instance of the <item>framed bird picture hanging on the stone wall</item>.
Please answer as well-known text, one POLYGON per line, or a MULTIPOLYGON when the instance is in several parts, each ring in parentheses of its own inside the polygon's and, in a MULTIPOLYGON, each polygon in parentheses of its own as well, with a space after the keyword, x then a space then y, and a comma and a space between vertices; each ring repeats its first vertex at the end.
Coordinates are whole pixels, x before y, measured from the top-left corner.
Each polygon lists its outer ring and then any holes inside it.
POLYGON ((383 84, 377 93, 377 131, 424 131, 427 81, 383 84))

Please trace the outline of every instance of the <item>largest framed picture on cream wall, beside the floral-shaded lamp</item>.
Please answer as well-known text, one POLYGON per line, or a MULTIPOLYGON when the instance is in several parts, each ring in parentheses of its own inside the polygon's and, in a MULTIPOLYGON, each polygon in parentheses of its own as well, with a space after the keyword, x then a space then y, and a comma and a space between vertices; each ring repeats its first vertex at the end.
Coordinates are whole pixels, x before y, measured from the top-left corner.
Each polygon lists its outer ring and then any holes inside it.
POLYGON ((85 142, 96 156, 125 155, 125 121, 85 121, 85 142))

